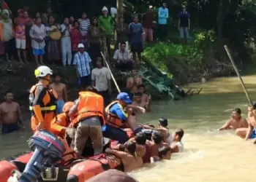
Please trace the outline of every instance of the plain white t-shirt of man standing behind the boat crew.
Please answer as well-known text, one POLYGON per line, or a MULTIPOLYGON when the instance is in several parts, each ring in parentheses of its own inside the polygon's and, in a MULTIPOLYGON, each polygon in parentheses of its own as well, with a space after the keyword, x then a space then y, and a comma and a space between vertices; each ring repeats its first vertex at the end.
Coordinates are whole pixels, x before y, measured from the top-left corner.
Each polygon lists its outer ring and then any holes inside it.
POLYGON ((95 82, 98 92, 108 90, 108 80, 111 79, 110 71, 106 67, 94 68, 91 71, 91 80, 95 82))

